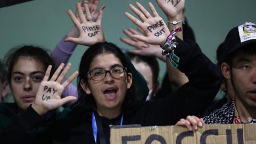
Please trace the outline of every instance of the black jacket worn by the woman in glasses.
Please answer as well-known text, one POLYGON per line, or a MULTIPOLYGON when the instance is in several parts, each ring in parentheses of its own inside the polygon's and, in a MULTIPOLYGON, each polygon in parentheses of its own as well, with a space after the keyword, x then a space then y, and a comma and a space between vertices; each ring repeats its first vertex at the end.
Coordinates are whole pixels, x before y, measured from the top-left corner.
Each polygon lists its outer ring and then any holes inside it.
MULTIPOLYGON (((178 69, 186 74, 189 82, 170 94, 170 97, 148 101, 137 111, 123 111, 123 124, 173 125, 187 115, 201 116, 217 94, 221 73, 193 42, 179 43, 174 53, 180 58, 178 69)), ((43 119, 29 107, 23 116, 15 119, 9 129, 5 129, 0 141, 8 143, 95 143, 92 133, 92 111, 79 113, 71 111, 63 119, 37 133, 43 119), (9 135, 11 134, 12 135, 9 135), (5 139, 4 139, 5 138, 5 139), (15 138, 15 139, 13 139, 15 138)), ((102 121, 107 143, 109 143, 109 124, 119 125, 121 116, 114 119, 97 116, 102 121)), ((99 137, 97 137, 99 143, 99 137)))

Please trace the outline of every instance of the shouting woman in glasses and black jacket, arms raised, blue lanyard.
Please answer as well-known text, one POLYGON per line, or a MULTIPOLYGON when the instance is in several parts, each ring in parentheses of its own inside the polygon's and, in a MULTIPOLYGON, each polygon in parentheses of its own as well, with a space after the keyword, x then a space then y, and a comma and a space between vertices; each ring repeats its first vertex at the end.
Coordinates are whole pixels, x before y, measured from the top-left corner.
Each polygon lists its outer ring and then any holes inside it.
MULTIPOLYGON (((141 12, 132 5, 130 8, 137 15, 145 18, 142 25, 131 14, 126 13, 126 16, 146 31, 146 36, 134 35, 134 37, 146 43, 163 45, 170 32, 167 31, 162 18, 158 16, 151 3, 149 6, 154 17, 149 15, 139 3, 136 4, 141 12), (158 21, 161 21, 162 26, 151 29, 150 32, 147 27, 158 21), (164 33, 162 29, 166 29, 164 33), (154 36, 155 31, 159 30, 162 31, 162 35, 154 36)), ((77 7, 78 13, 82 15, 80 5, 77 7)), ((84 21, 85 18, 80 19, 84 21)), ((83 32, 83 24, 76 23, 76 26, 83 32)), ((108 42, 96 43, 86 50, 81 59, 77 78, 79 99, 66 118, 59 119, 43 132, 36 133, 37 127, 44 121, 42 115, 73 100, 71 97, 60 99, 63 86, 55 82, 58 75, 49 78, 46 72, 35 102, 25 115, 16 121, 15 127, 9 127, 9 131, 5 131, 3 135, 8 137, 7 134, 12 132, 15 137, 19 137, 19 141, 16 139, 10 141, 16 143, 103 144, 109 143, 109 125, 172 125, 187 115, 202 114, 218 92, 221 74, 197 44, 183 42, 179 38, 176 41, 178 45, 175 55, 179 57, 178 69, 188 76, 189 82, 173 93, 172 97, 142 102, 137 97, 139 89, 134 86, 131 67, 119 47, 108 42)), ((70 83, 70 79, 67 79, 67 82, 70 83)), ((11 143, 10 141, 8 142, 11 143)))

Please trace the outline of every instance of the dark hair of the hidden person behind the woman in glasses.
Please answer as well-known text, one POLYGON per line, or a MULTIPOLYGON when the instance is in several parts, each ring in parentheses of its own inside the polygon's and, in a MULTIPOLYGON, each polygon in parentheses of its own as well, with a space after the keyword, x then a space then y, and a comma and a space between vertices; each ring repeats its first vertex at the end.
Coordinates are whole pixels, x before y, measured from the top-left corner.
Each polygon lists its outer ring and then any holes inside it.
POLYGON ((130 60, 135 62, 145 62, 150 67, 153 74, 153 85, 158 83, 159 65, 155 57, 146 57, 141 55, 135 55, 132 53, 127 53, 130 60))

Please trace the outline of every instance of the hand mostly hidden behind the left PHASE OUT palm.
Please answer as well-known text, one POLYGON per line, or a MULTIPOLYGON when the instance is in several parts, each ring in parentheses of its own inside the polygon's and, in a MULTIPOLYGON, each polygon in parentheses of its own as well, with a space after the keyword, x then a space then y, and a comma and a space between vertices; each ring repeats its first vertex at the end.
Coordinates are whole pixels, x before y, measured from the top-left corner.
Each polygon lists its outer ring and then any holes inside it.
MULTIPOLYGON (((101 6, 98 9, 99 2, 100 2, 100 0, 95 0, 95 1, 90 0, 90 1, 85 1, 85 2, 84 2, 84 0, 79 0, 79 4, 81 4, 81 6, 82 6, 81 8, 82 8, 84 13, 85 13, 84 4, 85 3, 88 4, 89 10, 90 10, 90 13, 91 13, 91 16, 92 16, 92 20, 94 22, 97 20, 100 11, 105 9, 105 6, 101 6)), ((78 18, 78 20, 79 20, 77 12, 76 12, 76 18, 78 18)), ((81 20, 79 20, 79 21, 81 21, 81 20)), ((75 25, 68 31, 67 36, 68 37, 79 37, 79 32, 78 32, 75 25)))

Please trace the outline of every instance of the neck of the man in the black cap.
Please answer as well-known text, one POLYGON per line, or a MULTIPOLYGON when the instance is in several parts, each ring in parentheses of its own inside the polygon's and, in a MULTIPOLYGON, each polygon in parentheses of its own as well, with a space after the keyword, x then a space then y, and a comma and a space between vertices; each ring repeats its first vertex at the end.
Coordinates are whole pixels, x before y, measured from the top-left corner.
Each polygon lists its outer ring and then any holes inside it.
POLYGON ((235 99, 235 106, 241 122, 250 123, 256 117, 256 108, 246 105, 245 102, 243 103, 239 99, 235 99))

